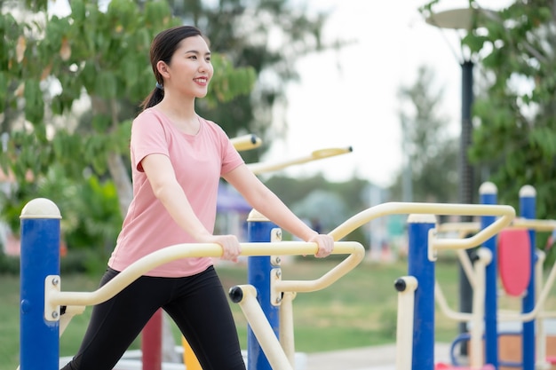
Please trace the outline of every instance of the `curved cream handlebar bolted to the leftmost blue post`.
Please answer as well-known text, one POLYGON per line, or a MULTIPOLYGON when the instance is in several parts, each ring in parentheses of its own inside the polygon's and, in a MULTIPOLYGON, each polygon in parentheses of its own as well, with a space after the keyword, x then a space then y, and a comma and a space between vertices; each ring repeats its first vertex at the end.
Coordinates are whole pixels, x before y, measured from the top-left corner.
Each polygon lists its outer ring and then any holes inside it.
MULTIPOLYGON (((241 256, 269 256, 269 255, 311 255, 317 252, 316 243, 306 243, 303 241, 280 241, 272 243, 241 243, 241 256)), ((338 280, 347 271, 346 265, 353 268, 359 264, 364 256, 365 249, 360 243, 354 241, 342 241, 334 244, 332 252, 336 255, 351 254, 342 263, 327 272, 321 279, 308 282, 309 285, 321 285, 328 287, 331 283, 338 280), (356 262, 356 263, 355 263, 356 262)), ((111 279, 103 287, 93 292, 60 292, 57 290, 47 290, 45 305, 81 305, 87 306, 106 302, 132 281, 154 269, 156 266, 166 264, 179 258, 211 256, 219 257, 222 255, 222 248, 218 244, 190 243, 177 244, 157 250, 150 255, 140 258, 131 264, 127 269, 120 272, 114 279, 111 279)), ((351 270, 351 269, 350 269, 351 270)), ((48 277, 47 277, 48 279, 48 277)))

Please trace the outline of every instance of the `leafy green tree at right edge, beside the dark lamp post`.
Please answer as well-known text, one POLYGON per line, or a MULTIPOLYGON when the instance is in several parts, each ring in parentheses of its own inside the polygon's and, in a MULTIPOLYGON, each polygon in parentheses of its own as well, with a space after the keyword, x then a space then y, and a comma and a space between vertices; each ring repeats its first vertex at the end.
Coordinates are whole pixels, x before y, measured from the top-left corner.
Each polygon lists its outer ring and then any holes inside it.
MULTIPOLYGON (((463 43, 481 54, 485 85, 473 104, 470 159, 486 174, 483 181, 496 184, 499 203, 517 209, 521 186, 533 185, 537 218, 553 219, 556 5, 515 1, 498 12, 473 0, 470 6, 478 12, 463 43)), ((537 238, 537 246, 545 240, 537 238)))

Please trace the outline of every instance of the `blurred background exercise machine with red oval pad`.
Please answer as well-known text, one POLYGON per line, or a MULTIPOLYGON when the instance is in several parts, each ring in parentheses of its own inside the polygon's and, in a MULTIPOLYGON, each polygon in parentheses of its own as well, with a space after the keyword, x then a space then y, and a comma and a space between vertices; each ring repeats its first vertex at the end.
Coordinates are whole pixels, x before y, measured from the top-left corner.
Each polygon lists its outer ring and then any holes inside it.
MULTIPOLYGON (((483 204, 496 204, 496 185, 481 185, 483 204)), ((436 299, 441 311, 450 319, 469 323, 469 334, 458 335, 452 343, 452 363, 457 366, 453 355, 456 345, 469 341, 471 344, 470 366, 480 368, 486 364, 495 366, 522 367, 524 370, 547 369, 554 362, 546 356, 546 334, 544 319, 556 318, 556 312, 544 311, 546 299, 556 279, 556 265, 543 283, 544 252, 536 250, 536 232, 552 232, 554 220, 537 220, 536 191, 530 185, 520 189, 520 217, 512 221, 497 238, 477 250, 474 264, 465 253, 458 253, 465 274, 473 287, 473 310, 471 313, 457 312, 449 308, 441 287, 436 283, 436 299), (498 273, 499 272, 499 273, 498 273), (498 278, 502 289, 498 289, 498 278), (498 309, 498 295, 521 298, 521 312, 498 309), (504 331, 499 323, 516 322, 520 331, 504 331), (498 339, 503 335, 521 336, 521 362, 509 362, 499 358, 498 339), (484 340, 484 352, 483 352, 484 340), (485 353, 483 358, 483 353, 485 353)), ((439 225, 439 232, 468 234, 479 232, 491 220, 480 223, 451 223, 439 225)))

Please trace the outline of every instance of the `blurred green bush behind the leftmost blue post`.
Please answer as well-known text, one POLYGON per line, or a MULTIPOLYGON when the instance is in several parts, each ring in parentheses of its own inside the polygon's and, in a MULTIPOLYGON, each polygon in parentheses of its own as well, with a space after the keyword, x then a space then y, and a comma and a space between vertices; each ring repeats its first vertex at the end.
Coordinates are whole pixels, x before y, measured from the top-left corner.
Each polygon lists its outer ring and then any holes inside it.
POLYGON ((48 197, 60 209, 61 238, 68 247, 68 256, 62 263, 62 270, 104 270, 107 256, 115 246, 123 222, 114 183, 109 180, 100 181, 94 176, 75 183, 68 179, 62 166, 52 166, 46 176, 25 185, 32 187, 32 190, 24 191, 29 195, 21 205, 10 201, 14 197, 0 201, 3 204, 3 215, 11 229, 19 233, 19 216, 23 205, 33 198, 48 197))

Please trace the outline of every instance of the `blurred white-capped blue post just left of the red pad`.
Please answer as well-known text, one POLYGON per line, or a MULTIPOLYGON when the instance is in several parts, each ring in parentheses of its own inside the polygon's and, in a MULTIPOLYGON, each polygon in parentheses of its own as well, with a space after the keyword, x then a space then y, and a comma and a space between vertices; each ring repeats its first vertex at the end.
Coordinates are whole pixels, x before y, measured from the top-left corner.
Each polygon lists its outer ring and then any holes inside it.
MULTIPOLYGON (((496 204, 498 189, 493 183, 483 183, 479 189, 481 204, 496 204)), ((481 216, 481 230, 494 223, 495 216, 481 216)), ((485 362, 498 368, 498 324, 497 324, 497 256, 496 237, 483 243, 492 253, 492 261, 485 272, 485 362)))

